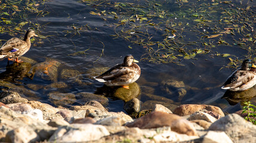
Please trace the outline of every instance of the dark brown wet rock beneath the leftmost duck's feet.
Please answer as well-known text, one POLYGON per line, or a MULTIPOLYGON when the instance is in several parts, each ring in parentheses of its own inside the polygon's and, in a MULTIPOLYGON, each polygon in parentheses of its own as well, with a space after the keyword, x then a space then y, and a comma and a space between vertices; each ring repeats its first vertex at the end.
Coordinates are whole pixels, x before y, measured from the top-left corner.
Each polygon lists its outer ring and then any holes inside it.
POLYGON ((8 82, 17 82, 28 76, 28 71, 31 69, 29 63, 13 63, 6 66, 6 71, 0 73, 0 79, 8 82))

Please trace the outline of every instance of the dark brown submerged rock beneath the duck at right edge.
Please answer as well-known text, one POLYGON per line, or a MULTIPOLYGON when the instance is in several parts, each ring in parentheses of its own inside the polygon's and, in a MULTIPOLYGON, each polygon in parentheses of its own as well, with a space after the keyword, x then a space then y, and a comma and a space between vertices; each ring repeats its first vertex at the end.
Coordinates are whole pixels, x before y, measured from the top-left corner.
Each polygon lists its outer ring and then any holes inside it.
POLYGON ((245 91, 226 91, 221 99, 228 101, 230 105, 236 105, 240 101, 249 101, 256 97, 256 85, 245 91))

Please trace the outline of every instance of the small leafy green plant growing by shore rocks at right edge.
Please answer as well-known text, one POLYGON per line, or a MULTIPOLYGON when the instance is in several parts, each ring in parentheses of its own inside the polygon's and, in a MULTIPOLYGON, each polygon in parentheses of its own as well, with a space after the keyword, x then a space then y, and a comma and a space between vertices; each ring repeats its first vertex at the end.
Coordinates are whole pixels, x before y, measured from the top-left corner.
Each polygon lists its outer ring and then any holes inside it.
POLYGON ((251 101, 243 102, 242 114, 246 114, 245 120, 256 125, 256 106, 251 104, 251 101))

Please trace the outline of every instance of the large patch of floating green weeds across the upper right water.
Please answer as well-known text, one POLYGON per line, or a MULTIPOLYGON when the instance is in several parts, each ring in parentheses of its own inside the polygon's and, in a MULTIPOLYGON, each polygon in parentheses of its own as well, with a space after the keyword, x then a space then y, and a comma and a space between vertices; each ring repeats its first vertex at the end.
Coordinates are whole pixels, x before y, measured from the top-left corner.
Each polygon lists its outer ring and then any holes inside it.
POLYGON ((182 65, 180 61, 196 60, 200 55, 249 58, 256 54, 251 1, 80 2, 94 7, 89 13, 113 27, 115 34, 110 36, 114 39, 125 39, 130 49, 143 48, 141 60, 182 65), (222 46, 247 54, 219 53, 222 46))

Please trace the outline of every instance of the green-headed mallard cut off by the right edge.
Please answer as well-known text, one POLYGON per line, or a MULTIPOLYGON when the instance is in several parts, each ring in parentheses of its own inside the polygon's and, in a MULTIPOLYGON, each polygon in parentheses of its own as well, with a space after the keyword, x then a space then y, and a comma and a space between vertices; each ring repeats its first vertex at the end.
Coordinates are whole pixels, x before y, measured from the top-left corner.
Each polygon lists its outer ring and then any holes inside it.
POLYGON ((256 66, 252 63, 252 60, 244 60, 242 67, 234 71, 221 88, 230 91, 245 91, 252 88, 252 86, 256 85, 254 68, 256 66))

